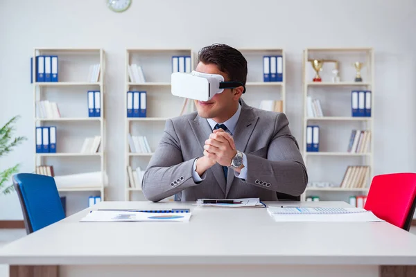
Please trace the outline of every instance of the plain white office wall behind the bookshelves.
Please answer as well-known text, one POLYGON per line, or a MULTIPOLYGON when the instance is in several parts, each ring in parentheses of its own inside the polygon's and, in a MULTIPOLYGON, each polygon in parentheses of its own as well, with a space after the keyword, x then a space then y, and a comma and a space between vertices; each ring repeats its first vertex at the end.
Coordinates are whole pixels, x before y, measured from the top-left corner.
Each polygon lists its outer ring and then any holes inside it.
MULTIPOLYGON (((416 171, 416 3, 413 0, 194 1, 133 0, 117 14, 105 1, 0 1, 0 125, 22 116, 28 136, 0 169, 21 162, 33 170, 33 94, 28 60, 35 47, 97 47, 107 52, 107 199, 123 199, 125 48, 194 48, 223 42, 236 48, 286 50, 287 108, 302 134, 302 50, 372 46, 376 94, 374 173, 416 171)), ((0 197, 0 220, 21 217, 17 197, 0 197)))

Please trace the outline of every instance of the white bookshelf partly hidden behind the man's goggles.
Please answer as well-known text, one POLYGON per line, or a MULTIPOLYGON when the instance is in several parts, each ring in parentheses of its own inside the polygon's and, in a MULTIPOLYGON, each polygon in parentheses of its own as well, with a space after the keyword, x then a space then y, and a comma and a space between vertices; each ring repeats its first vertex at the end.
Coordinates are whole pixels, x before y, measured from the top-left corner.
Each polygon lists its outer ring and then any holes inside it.
MULTIPOLYGON (((195 56, 191 48, 128 48, 125 51, 125 200, 143 199, 141 181, 135 170, 146 170, 153 152, 162 138, 166 120, 180 116, 184 99, 171 94, 171 73, 173 56, 190 56, 191 70, 195 68, 195 56), (131 65, 141 66, 144 82, 134 82, 130 79, 131 65), (130 67, 130 68, 129 68, 130 67), (130 73, 129 73, 130 70, 130 73), (146 117, 128 117, 128 91, 146 91, 146 117), (146 136, 150 152, 131 152, 129 134, 146 136), (137 178, 135 186, 130 186, 128 167, 131 167, 133 178, 137 178)), ((186 112, 193 111, 193 103, 188 105, 186 112)), ((173 197, 170 197, 173 199, 173 197)))

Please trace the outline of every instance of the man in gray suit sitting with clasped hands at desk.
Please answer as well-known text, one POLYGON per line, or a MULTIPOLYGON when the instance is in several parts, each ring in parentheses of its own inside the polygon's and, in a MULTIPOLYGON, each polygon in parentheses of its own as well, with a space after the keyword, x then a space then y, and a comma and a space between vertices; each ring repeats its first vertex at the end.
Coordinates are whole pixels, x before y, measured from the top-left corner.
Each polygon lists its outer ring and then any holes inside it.
MULTIPOLYGON (((236 49, 214 44, 200 50, 196 71, 245 85, 247 61, 236 49)), ((246 105, 244 90, 224 89, 206 102, 195 100, 198 112, 166 121, 144 173, 147 199, 275 201, 277 193, 304 192, 308 175, 286 115, 246 105)))

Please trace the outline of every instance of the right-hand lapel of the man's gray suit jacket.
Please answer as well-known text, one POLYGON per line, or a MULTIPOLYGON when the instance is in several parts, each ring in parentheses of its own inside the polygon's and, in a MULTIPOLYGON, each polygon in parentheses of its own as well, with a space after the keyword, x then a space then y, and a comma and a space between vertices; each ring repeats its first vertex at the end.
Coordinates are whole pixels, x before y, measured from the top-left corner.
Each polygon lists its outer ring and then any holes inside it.
MULTIPOLYGON (((247 148, 250 136, 252 135, 254 127, 257 124, 257 120, 259 120, 259 117, 253 114, 252 108, 246 105, 243 100, 241 100, 241 114, 239 120, 237 121, 235 132, 233 134, 234 143, 236 144, 236 150, 245 152, 245 148, 247 148)), ((227 186, 225 191, 225 197, 227 197, 229 193, 234 178, 234 170, 229 169, 227 174, 227 186)))

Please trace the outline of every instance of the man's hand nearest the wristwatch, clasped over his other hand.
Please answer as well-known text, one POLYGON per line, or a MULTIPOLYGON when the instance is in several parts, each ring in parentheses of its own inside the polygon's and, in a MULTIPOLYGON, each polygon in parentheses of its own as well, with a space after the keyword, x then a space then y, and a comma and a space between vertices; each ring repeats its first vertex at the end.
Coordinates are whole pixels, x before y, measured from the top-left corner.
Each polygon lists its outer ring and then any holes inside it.
POLYGON ((216 129, 209 135, 204 149, 207 150, 209 159, 215 160, 221 166, 230 166, 231 159, 237 153, 234 139, 223 129, 216 129))

